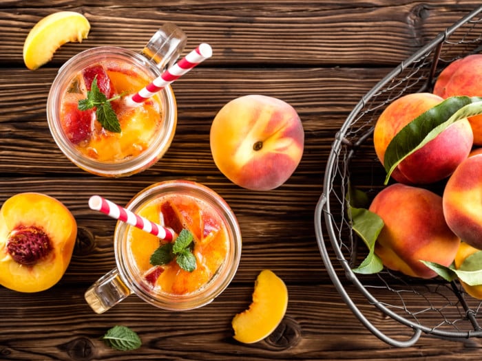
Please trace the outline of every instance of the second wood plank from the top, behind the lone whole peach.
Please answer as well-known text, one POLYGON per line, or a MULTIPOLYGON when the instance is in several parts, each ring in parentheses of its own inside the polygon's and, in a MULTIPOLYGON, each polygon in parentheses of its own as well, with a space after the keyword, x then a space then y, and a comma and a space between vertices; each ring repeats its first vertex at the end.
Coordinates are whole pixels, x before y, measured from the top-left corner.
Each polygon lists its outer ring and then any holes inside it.
MULTIPOLYGON (((306 151, 300 175, 324 168, 336 131, 351 107, 386 69, 195 69, 173 85, 178 103, 176 135, 162 160, 148 174, 218 175, 209 149, 211 121, 238 96, 264 94, 289 102, 303 122, 306 151)), ((0 69, 0 173, 83 175, 56 147, 45 104, 53 69, 0 69), (19 94, 18 89, 29 89, 19 94), (16 109, 14 112, 11 109, 16 109), (55 166, 52 167, 52 162, 55 166)))

